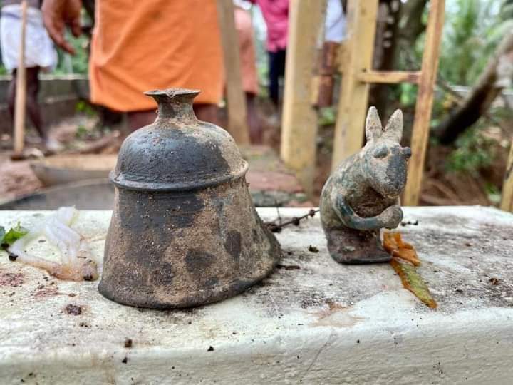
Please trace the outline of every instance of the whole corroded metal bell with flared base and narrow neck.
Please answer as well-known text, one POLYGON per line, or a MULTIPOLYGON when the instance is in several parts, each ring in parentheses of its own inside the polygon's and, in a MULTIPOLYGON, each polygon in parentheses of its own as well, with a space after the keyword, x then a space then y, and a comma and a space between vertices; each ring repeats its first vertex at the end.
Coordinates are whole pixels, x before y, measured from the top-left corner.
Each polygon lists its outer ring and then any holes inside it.
POLYGON ((238 294, 281 257, 254 209, 248 165, 222 128, 197 120, 199 91, 150 91, 155 123, 126 138, 99 290, 136 307, 191 307, 238 294))

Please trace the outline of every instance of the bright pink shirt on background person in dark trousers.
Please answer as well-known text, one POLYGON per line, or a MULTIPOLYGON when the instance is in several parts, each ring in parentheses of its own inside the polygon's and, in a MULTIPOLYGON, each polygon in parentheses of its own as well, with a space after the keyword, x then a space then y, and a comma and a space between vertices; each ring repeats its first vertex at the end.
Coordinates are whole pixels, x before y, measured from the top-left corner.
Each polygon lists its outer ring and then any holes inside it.
POLYGON ((289 0, 250 0, 258 4, 267 25, 267 51, 285 49, 289 29, 289 0))

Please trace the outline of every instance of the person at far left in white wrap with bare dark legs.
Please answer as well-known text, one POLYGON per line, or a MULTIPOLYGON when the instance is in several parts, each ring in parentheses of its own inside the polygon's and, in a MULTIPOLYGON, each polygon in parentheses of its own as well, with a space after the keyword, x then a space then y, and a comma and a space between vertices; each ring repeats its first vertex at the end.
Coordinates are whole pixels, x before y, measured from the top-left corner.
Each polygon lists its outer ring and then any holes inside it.
MULTIPOLYGON (((41 106, 38 103, 40 88, 39 72, 48 71, 57 64, 57 52, 43 25, 40 0, 27 0, 25 67, 26 67, 26 110, 48 150, 56 150, 59 145, 48 137, 43 125, 41 106)), ((2 61, 11 72, 7 103, 14 122, 16 101, 16 78, 21 45, 21 0, 4 0, 0 18, 0 48, 2 61)))

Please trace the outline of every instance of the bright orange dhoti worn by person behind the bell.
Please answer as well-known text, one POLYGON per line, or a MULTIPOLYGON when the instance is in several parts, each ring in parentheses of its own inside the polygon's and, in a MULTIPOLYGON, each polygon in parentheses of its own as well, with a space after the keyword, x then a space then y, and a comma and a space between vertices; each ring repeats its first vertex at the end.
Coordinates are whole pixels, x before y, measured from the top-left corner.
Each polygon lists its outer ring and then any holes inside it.
POLYGON ((99 0, 91 45, 91 101, 117 111, 156 107, 142 92, 197 88, 219 103, 222 49, 215 0, 99 0))

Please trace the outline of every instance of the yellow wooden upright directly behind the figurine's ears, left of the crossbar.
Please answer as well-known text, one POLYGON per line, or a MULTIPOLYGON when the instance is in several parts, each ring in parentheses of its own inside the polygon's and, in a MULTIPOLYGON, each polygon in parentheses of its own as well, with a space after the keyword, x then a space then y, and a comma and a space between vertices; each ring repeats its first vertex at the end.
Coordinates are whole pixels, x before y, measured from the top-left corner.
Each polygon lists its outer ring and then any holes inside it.
POLYGON ((348 41, 341 61, 341 97, 333 138, 334 170, 342 160, 357 153, 363 144, 369 84, 360 80, 371 71, 378 0, 348 0, 348 41))

